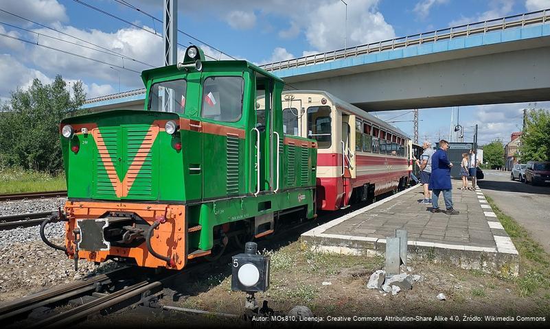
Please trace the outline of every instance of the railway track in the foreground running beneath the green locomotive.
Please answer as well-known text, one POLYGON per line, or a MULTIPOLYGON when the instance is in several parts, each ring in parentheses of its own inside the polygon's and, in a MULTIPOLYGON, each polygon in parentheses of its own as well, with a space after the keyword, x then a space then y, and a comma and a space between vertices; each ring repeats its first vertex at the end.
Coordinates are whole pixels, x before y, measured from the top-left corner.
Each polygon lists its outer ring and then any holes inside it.
MULTIPOLYGON (((284 245, 284 241, 277 243, 276 241, 279 239, 293 240, 303 230, 309 230, 314 226, 346 215, 366 205, 363 202, 345 210, 323 213, 315 221, 300 221, 299 223, 282 225, 279 227, 279 232, 271 235, 273 238, 258 241, 260 243, 259 247, 274 247, 274 245, 280 247, 282 246, 280 243, 284 245)), ((148 274, 139 276, 136 275, 135 267, 123 267, 87 280, 79 280, 71 284, 54 287, 19 300, 0 304, 0 323, 8 325, 8 328, 53 328, 83 321, 89 315, 98 314, 102 311, 106 311, 104 314, 113 313, 136 304, 146 303, 148 297, 161 295, 163 289, 172 286, 176 282, 181 284, 182 280, 174 280, 176 278, 194 275, 195 273, 216 271, 216 268, 221 269, 227 265, 233 252, 241 251, 240 249, 231 248, 228 253, 214 263, 191 263, 185 270, 180 272, 162 271, 155 274, 154 271, 144 271, 148 274), (129 281, 128 278, 135 280, 129 281), (69 300, 75 300, 83 296, 89 296, 89 298, 80 298, 83 302, 78 306, 68 310, 65 307, 65 310, 60 312, 54 309, 56 306, 66 305, 69 300), (85 302, 86 300, 87 302, 85 302), (27 319, 32 310, 43 306, 51 308, 52 312, 49 317, 32 321, 27 319)))

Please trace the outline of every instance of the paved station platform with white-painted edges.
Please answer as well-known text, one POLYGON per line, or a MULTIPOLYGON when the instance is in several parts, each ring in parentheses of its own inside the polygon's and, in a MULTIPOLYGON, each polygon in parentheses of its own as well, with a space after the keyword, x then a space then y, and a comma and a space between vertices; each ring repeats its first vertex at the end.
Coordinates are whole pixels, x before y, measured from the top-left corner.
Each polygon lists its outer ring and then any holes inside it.
MULTIPOLYGON (((317 252, 385 254, 387 236, 407 230, 407 258, 450 262, 465 269, 518 276, 519 256, 483 191, 461 191, 452 180, 452 201, 459 215, 433 214, 420 185, 381 199, 301 235, 317 252)), ((443 195, 439 206, 445 209, 443 195)))

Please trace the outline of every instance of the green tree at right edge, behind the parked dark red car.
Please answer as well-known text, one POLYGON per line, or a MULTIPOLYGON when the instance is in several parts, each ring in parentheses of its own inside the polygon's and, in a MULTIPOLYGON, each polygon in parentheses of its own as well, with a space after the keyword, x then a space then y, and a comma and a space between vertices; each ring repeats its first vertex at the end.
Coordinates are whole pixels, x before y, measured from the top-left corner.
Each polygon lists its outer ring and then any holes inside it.
POLYGON ((550 160, 550 113, 547 110, 527 113, 519 151, 523 163, 550 160))

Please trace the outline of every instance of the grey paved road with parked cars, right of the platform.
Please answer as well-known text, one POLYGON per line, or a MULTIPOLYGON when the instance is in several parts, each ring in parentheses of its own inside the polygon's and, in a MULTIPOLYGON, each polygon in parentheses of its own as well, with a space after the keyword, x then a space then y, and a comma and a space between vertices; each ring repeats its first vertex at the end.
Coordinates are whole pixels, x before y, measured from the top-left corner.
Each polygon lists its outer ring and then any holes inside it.
POLYGON ((509 171, 485 170, 479 187, 550 253, 550 186, 510 180, 509 171))

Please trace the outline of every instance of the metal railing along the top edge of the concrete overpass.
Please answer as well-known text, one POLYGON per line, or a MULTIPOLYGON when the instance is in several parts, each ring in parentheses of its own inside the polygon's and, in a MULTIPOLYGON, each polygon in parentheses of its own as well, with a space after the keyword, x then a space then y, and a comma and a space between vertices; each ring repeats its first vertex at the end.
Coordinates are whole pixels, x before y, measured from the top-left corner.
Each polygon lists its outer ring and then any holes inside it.
POLYGON ((326 53, 317 53, 315 55, 293 58, 291 60, 264 64, 260 65, 260 67, 266 71, 278 71, 293 67, 332 62, 343 58, 352 58, 367 53, 378 53, 380 51, 400 49, 412 45, 422 45, 424 43, 436 42, 439 40, 452 40, 457 37, 486 34, 488 32, 524 27, 526 25, 545 24, 549 21, 550 9, 539 10, 537 12, 507 16, 501 19, 492 19, 489 21, 448 27, 446 29, 438 29, 437 31, 413 34, 412 36, 404 36, 401 38, 369 43, 367 45, 358 45, 346 49, 328 51, 326 53))

